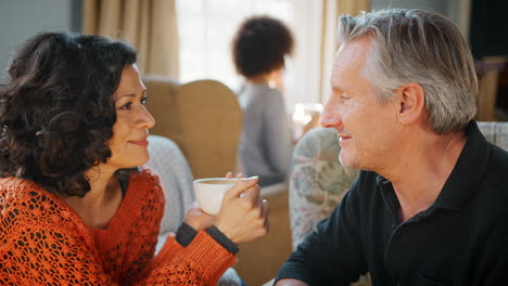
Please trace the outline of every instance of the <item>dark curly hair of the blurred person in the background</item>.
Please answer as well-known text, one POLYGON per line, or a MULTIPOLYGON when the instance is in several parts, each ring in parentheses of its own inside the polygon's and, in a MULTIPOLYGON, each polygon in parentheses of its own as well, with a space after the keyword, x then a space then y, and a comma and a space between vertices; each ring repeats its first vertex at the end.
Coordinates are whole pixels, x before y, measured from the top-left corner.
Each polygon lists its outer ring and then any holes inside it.
POLYGON ((293 36, 282 22, 269 16, 250 17, 232 41, 237 72, 252 78, 281 68, 293 46, 293 36))

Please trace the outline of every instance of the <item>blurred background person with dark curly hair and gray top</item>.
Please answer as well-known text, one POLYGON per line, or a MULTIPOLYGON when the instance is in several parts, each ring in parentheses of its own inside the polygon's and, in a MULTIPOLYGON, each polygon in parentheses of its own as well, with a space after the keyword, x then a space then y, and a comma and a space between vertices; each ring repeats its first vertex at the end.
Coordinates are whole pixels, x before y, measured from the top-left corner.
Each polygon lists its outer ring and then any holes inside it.
POLYGON ((293 36, 280 21, 253 16, 243 22, 233 41, 233 62, 244 78, 238 92, 243 109, 239 155, 243 172, 259 176, 259 185, 287 180, 293 136, 282 96, 284 56, 293 36))

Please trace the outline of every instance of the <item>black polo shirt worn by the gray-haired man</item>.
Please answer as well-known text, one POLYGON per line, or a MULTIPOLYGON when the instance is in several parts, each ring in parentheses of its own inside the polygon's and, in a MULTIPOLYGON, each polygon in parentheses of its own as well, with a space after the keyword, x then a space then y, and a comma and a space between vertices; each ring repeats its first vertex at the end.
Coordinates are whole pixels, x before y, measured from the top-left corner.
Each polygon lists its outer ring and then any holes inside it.
POLYGON ((277 275, 309 285, 508 285, 508 153, 471 121, 437 199, 401 223, 391 182, 361 171, 277 275))

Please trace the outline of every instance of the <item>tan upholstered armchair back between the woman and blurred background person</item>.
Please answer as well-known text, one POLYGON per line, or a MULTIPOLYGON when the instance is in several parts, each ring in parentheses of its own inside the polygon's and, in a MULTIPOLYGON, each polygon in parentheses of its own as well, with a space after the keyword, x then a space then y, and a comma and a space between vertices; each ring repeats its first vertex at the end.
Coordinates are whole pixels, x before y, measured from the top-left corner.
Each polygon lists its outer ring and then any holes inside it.
POLYGON ((237 95, 215 80, 178 84, 147 77, 148 108, 156 123, 151 133, 175 141, 194 178, 223 177, 234 170, 243 128, 237 95))

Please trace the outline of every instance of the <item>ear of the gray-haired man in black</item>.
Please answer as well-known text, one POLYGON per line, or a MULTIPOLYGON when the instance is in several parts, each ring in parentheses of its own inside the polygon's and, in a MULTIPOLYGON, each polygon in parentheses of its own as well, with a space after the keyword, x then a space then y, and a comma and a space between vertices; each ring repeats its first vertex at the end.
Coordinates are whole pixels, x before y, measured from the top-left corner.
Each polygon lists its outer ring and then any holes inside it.
POLYGON ((409 125, 424 115, 426 95, 418 83, 407 83, 401 87, 398 93, 398 121, 409 125))

